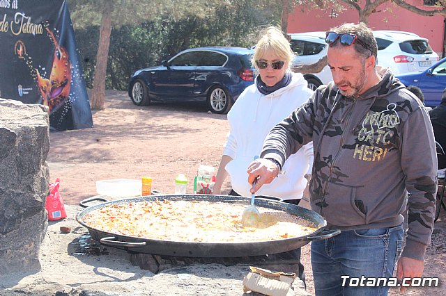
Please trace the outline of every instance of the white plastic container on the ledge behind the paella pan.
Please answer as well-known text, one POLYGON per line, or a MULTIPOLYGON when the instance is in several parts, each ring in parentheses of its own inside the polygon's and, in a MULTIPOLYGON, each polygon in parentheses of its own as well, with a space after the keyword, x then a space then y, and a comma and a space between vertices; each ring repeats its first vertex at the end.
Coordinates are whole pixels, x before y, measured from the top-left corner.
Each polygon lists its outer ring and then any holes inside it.
POLYGON ((141 180, 112 179, 96 181, 96 192, 109 197, 140 196, 141 187, 141 180))

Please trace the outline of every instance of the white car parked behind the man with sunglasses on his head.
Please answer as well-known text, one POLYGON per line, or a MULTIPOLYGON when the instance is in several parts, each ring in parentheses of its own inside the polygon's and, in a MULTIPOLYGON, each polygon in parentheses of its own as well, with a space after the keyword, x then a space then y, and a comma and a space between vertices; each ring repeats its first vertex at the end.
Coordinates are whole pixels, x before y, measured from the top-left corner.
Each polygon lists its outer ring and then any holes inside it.
MULTIPOLYGON (((327 55, 325 32, 291 33, 291 48, 296 56, 293 65, 311 65, 327 55)), ((403 31, 374 31, 378 44, 378 65, 390 67, 393 74, 416 72, 427 69, 439 60, 426 38, 403 31)), ((304 74, 312 90, 332 81, 327 66, 321 72, 304 74)))

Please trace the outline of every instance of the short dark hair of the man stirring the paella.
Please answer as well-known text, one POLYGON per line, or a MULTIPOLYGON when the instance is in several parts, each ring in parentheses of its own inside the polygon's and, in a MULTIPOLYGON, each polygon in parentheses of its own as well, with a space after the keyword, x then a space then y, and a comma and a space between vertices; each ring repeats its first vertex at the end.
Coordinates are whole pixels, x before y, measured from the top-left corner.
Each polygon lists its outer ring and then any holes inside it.
MULTIPOLYGON (((367 44, 367 47, 364 47, 360 42, 355 42, 356 51, 362 56, 368 58, 369 56, 375 56, 375 59, 378 60, 378 45, 376 44, 376 39, 374 38, 374 33, 371 31, 366 24, 360 22, 359 24, 354 23, 346 23, 341 24, 341 26, 337 26, 330 29, 333 32, 339 34, 353 34, 361 40, 364 44, 367 44)), ((330 44, 330 47, 337 47, 341 43, 339 40, 330 44)))

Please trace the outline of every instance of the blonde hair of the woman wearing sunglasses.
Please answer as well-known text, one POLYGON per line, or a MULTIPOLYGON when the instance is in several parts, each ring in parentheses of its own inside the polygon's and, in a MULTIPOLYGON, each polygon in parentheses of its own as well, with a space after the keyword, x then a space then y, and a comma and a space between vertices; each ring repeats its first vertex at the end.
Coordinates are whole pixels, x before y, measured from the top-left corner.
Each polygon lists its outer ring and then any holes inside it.
POLYGON ((252 57, 252 65, 257 67, 256 60, 261 60, 268 51, 274 52, 276 56, 284 60, 286 67, 290 69, 291 61, 294 58, 290 42, 286 40, 282 31, 274 26, 267 28, 266 33, 257 42, 254 56, 252 57))

